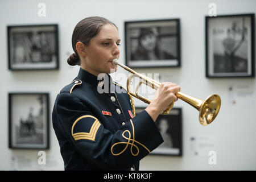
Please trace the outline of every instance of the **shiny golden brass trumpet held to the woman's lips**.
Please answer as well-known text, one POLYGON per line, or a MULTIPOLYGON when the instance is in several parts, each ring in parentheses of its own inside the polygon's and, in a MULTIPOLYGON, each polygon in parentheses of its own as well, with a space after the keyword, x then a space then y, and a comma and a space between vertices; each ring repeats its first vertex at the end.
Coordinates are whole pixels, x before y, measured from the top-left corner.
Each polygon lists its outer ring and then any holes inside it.
MULTIPOLYGON (((132 96, 138 98, 139 100, 150 104, 150 100, 148 98, 141 96, 138 92, 139 87, 142 84, 145 84, 147 86, 151 86, 151 88, 157 90, 160 86, 160 82, 152 80, 151 78, 148 78, 140 73, 135 72, 133 69, 130 69, 129 67, 126 67, 125 65, 118 63, 117 59, 114 59, 112 61, 113 64, 119 65, 120 67, 126 69, 127 71, 133 73, 133 75, 129 76, 127 79, 127 92, 129 92, 132 96), (132 84, 131 79, 133 77, 139 77, 141 78, 141 81, 137 85, 137 88, 135 90, 135 93, 131 91, 130 85, 132 84)), ((182 92, 177 92, 175 94, 177 98, 180 98, 181 100, 187 102, 189 105, 195 107, 197 110, 199 110, 199 121, 201 125, 206 126, 213 122, 213 120, 216 118, 218 111, 220 111, 221 106, 221 98, 217 94, 212 94, 209 97, 207 97, 206 100, 200 100, 199 98, 188 96, 187 94, 184 94, 182 92)), ((174 102, 168 106, 166 110, 163 111, 163 114, 167 114, 168 111, 172 109, 174 106, 174 102)))

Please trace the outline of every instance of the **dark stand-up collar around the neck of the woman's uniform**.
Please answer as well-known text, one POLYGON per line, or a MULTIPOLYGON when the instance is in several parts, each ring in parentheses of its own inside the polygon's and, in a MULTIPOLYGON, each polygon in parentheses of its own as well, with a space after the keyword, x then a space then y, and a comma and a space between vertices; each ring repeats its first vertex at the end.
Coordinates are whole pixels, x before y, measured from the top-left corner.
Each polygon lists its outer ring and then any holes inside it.
MULTIPOLYGON (((79 74, 77 76, 81 80, 88 82, 91 85, 98 86, 98 83, 104 79, 101 79, 100 77, 97 77, 93 75, 92 73, 89 73, 88 71, 85 71, 84 69, 80 68, 79 74)), ((106 74, 105 79, 108 78, 109 80, 109 85, 112 84, 112 78, 109 74, 106 74)))

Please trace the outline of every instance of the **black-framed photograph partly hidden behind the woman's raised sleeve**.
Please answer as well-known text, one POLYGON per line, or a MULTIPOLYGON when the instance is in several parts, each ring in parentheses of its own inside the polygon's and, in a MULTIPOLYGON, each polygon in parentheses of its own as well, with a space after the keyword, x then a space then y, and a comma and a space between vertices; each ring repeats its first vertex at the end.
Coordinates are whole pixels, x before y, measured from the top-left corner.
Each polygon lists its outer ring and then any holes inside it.
MULTIPOLYGON (((140 113, 143 107, 137 107, 140 113)), ((172 108, 169 114, 160 114, 155 123, 164 142, 150 154, 182 156, 182 119, 181 108, 172 108)))

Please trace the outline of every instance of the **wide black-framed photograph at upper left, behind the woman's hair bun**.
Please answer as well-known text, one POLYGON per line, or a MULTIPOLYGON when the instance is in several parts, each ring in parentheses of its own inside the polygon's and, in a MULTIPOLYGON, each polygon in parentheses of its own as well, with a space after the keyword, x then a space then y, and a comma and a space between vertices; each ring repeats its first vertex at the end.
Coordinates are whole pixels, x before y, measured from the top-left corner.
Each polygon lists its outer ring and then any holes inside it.
POLYGON ((57 24, 7 26, 10 70, 59 69, 57 24))

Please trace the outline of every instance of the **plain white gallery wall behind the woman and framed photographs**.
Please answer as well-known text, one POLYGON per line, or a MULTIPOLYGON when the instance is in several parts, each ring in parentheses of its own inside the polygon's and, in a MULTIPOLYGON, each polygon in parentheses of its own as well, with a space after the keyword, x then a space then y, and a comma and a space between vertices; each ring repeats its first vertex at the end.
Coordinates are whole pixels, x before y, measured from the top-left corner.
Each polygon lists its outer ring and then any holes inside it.
MULTIPOLYGON (((87 16, 104 16, 119 28, 122 40, 119 61, 125 63, 124 22, 130 20, 180 19, 181 67, 135 69, 142 73, 159 73, 160 81, 172 81, 181 91, 205 99, 210 94, 221 96, 221 110, 209 126, 201 126, 199 112, 183 101, 175 107, 183 109, 183 155, 148 155, 141 160, 141 170, 255 170, 256 169, 256 81, 255 78, 205 77, 205 16, 209 3, 217 5, 217 15, 256 13, 256 1, 205 1, 205 0, 108 0, 108 1, 0 1, 0 169, 1 170, 63 170, 59 144, 50 118, 50 148, 46 164, 38 164, 40 150, 10 149, 8 147, 8 93, 47 92, 49 111, 57 93, 77 76, 79 67, 67 64, 73 53, 71 36, 73 28, 87 16), (38 16, 38 4, 45 3, 46 16, 38 16), (7 64, 7 26, 23 24, 59 25, 60 69, 55 71, 10 71, 7 64), (230 92, 229 88, 233 90, 230 92), (243 94, 247 93, 247 94, 243 94), (236 101, 234 104, 233 101, 236 101), (191 138, 203 143, 193 143, 191 138), (215 151, 212 164, 208 145, 215 151), (207 147, 206 147, 207 148, 207 147), (194 151, 201 155, 195 155, 194 151), (203 152, 204 151, 204 152, 203 152)), ((255 23, 255 22, 254 22, 255 23)), ((255 34, 255 32, 254 32, 255 34)), ((254 40, 255 41, 255 40, 254 40)), ((255 52, 255 47, 253 49, 255 52)), ((121 68, 118 73, 124 73, 121 68)), ((125 82, 121 82, 125 84, 125 82)), ((135 100, 137 106, 146 106, 135 100)))

